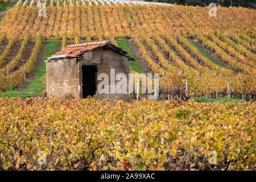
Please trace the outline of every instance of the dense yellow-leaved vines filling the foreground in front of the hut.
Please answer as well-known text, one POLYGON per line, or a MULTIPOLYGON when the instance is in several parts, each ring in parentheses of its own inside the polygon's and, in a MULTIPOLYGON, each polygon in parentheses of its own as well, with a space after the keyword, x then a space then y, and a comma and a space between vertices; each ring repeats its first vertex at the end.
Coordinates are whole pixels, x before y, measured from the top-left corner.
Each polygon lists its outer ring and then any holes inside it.
POLYGON ((0 169, 255 170, 255 109, 255 102, 0 98, 0 169), (39 151, 47 165, 38 164, 39 151))

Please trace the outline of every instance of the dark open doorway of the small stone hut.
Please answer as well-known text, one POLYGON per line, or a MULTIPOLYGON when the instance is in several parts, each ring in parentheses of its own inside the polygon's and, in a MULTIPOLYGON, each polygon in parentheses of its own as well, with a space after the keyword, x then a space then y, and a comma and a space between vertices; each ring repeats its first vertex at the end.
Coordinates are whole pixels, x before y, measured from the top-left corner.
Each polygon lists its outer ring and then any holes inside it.
POLYGON ((82 97, 87 98, 96 93, 97 66, 82 66, 82 97))

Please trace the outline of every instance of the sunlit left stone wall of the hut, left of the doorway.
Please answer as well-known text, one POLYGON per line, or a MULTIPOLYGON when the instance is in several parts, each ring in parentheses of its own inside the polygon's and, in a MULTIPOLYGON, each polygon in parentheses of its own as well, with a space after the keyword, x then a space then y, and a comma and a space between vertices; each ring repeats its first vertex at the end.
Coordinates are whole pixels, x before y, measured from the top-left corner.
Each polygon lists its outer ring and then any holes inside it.
POLYGON ((47 94, 64 97, 66 93, 72 93, 76 100, 80 99, 79 70, 76 59, 46 63, 47 94))

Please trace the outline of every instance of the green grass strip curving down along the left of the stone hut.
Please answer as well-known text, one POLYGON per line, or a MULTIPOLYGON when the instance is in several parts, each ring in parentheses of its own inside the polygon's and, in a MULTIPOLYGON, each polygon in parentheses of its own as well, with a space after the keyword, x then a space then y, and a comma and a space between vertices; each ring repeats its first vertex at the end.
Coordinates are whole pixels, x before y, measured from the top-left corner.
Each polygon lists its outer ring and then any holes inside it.
POLYGON ((36 97, 40 95, 40 90, 43 89, 42 77, 43 73, 46 73, 46 63, 44 61, 47 57, 53 55, 56 52, 56 48, 59 42, 57 40, 47 40, 46 49, 44 51, 43 61, 40 67, 36 70, 36 76, 34 80, 31 81, 30 85, 25 90, 7 90, 6 92, 0 93, 0 97, 36 97))

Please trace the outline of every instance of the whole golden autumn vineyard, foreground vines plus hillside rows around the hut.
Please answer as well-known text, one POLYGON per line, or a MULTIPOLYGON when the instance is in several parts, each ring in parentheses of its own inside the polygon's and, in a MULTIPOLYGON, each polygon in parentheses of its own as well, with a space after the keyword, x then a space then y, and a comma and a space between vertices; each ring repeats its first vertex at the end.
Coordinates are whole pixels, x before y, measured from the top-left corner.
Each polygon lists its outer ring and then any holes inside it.
POLYGON ((0 170, 255 170, 256 10, 218 6, 216 17, 209 10, 18 1, 0 22, 0 92, 35 71, 46 40, 60 40, 64 49, 101 40, 117 46, 122 38, 138 51, 145 73, 159 73, 160 97, 168 101, 0 97, 0 170), (46 165, 38 164, 39 151, 46 152, 46 165), (217 165, 208 163, 210 151, 217 152, 217 165))

